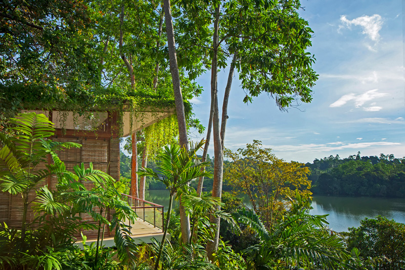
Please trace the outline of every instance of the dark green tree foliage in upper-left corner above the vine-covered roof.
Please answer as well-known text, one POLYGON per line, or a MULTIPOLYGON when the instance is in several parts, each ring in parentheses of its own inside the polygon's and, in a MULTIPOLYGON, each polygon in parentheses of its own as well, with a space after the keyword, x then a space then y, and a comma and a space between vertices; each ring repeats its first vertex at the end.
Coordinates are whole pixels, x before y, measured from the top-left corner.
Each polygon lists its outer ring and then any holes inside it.
MULTIPOLYGON (((0 81, 3 87, 63 95, 97 78, 93 11, 83 1, 5 1, 1 7, 0 81), (27 89, 28 90, 28 89, 27 89)), ((26 93, 30 93, 27 91, 26 93)))

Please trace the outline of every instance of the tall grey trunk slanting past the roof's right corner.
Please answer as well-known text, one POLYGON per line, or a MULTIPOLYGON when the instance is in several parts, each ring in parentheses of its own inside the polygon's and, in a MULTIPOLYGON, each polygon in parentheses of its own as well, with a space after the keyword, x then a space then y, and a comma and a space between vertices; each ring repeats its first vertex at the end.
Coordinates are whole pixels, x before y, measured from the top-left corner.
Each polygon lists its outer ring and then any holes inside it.
MULTIPOLYGON (((166 22, 166 32, 168 38, 168 48, 169 48, 169 62, 170 62, 170 73, 172 74, 174 100, 176 105, 177 123, 179 126, 179 141, 181 147, 186 147, 188 151, 188 140, 187 140, 187 126, 186 126, 186 116, 184 113, 184 103, 183 96, 181 94, 180 88, 180 75, 179 67, 177 65, 176 56, 176 42, 174 39, 172 12, 170 10, 170 0, 164 0, 163 6, 165 10, 165 22, 166 22)), ((180 223, 181 223, 181 238, 183 243, 188 243, 190 240, 190 218, 186 214, 186 210, 181 202, 180 198, 180 223)))

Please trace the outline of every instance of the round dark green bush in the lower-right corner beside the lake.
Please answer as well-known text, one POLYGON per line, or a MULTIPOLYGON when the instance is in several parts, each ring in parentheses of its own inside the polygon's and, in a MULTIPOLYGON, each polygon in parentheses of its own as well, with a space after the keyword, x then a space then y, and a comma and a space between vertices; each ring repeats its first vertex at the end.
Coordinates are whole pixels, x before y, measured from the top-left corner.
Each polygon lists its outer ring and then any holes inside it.
POLYGON ((349 250, 371 258, 371 269, 405 269, 405 225, 386 217, 366 218, 358 228, 349 228, 349 250))

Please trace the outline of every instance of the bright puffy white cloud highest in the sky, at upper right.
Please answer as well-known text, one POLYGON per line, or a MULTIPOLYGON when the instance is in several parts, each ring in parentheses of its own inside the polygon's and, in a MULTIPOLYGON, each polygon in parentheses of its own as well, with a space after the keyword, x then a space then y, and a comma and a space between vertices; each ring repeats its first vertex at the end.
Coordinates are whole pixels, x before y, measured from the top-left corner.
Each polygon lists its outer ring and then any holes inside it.
POLYGON ((340 16, 340 21, 343 25, 340 25, 340 28, 344 26, 350 28, 352 25, 361 26, 363 29, 362 33, 369 36, 372 41, 378 42, 380 40, 379 31, 383 25, 383 19, 380 15, 374 14, 373 16, 361 16, 353 20, 348 20, 345 15, 340 16))

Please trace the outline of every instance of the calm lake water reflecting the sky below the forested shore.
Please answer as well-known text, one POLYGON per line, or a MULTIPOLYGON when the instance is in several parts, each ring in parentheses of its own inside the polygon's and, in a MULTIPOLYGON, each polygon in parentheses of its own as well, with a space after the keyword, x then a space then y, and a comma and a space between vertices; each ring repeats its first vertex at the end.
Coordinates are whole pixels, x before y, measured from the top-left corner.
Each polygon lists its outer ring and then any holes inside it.
MULTIPOLYGON (((167 211, 168 190, 150 190, 145 197, 147 201, 165 206, 167 211)), ((247 203, 246 200, 244 202, 247 203)), ((177 202, 174 202, 174 207, 177 206, 177 202)), ((361 219, 374 218, 377 215, 405 223, 405 199, 315 196, 312 207, 310 213, 313 215, 329 214, 329 227, 337 232, 347 231, 348 227, 358 227, 361 219)))

